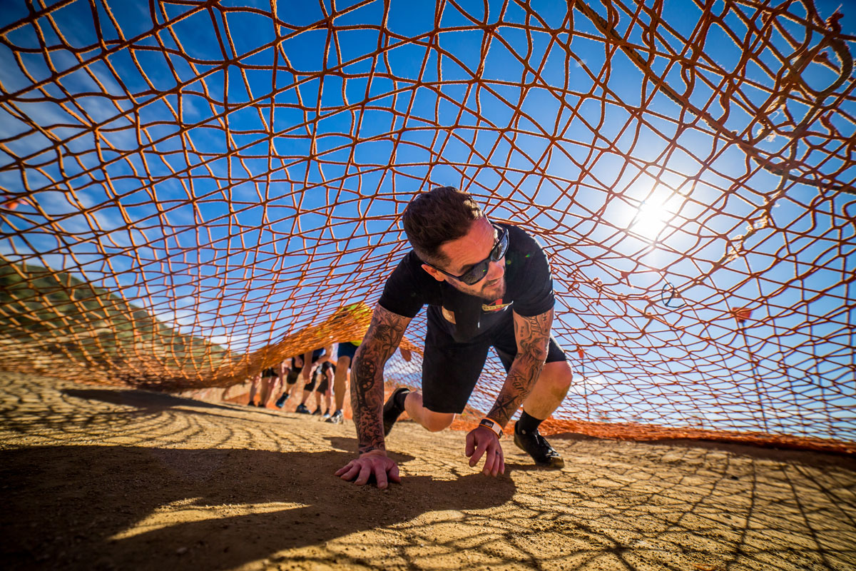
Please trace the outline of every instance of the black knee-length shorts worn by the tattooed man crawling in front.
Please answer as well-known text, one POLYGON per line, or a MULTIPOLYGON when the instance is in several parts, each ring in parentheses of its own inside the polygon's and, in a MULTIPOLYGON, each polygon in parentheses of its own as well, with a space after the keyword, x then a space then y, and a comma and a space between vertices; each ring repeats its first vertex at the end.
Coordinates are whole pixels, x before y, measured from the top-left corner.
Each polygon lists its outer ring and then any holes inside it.
MULTIPOLYGON (((455 342, 444 330, 440 308, 428 306, 425 357, 422 361, 422 404, 435 413, 461 413, 473 394, 476 382, 493 347, 505 371, 517 355, 512 312, 490 330, 468 342, 455 342)), ((556 339, 550 336, 547 362, 568 360, 556 339)))

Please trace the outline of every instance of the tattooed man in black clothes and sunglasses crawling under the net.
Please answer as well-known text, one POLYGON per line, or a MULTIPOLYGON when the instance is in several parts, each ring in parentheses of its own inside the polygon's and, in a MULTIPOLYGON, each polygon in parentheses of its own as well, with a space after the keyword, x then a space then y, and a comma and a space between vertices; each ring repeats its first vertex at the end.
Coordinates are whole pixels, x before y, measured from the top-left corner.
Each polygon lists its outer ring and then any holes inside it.
POLYGON ((461 413, 495 348, 508 376, 496 402, 467 434, 465 452, 484 474, 505 472, 499 440, 522 404, 514 444, 539 465, 562 467, 562 457, 538 425, 562 403, 573 373, 550 336, 553 279, 537 241, 516 226, 492 223, 469 193, 438 187, 404 211, 413 250, 389 276, 372 324, 354 355, 351 403, 360 455, 336 475, 378 488, 401 482, 384 438, 407 411, 429 431, 442 431, 461 413), (400 387, 383 404, 383 365, 422 306, 428 306, 422 390, 400 387))

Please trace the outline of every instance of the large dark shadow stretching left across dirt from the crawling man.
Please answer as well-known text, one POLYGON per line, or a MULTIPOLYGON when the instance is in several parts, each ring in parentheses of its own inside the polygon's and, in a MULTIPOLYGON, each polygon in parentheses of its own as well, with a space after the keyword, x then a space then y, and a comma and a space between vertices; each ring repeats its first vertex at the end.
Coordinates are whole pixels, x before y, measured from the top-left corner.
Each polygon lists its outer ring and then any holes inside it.
POLYGON ((480 473, 405 476, 387 491, 360 487, 334 475, 353 458, 337 450, 0 450, 4 568, 163 569, 211 564, 212 557, 235 568, 433 510, 499 506, 514 495, 511 479, 480 473))

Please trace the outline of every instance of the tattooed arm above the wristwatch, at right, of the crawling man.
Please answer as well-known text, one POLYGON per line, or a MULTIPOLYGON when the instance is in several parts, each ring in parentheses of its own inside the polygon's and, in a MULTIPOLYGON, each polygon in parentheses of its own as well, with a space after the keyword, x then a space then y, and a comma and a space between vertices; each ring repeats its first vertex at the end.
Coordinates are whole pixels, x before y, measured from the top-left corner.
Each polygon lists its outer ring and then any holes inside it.
POLYGON ((550 328, 553 324, 553 310, 523 317, 514 313, 514 337, 517 339, 517 356, 508 370, 508 377, 488 417, 505 426, 517 412, 532 387, 538 381, 541 369, 547 360, 547 348, 550 345, 550 328))

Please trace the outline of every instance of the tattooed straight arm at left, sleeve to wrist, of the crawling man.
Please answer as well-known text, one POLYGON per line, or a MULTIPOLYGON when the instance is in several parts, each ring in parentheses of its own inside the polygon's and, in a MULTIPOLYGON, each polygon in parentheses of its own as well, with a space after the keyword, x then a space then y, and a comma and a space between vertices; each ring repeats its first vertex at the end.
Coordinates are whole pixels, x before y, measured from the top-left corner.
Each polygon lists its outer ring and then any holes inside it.
POLYGON ((383 365, 395 353, 410 318, 389 312, 378 304, 372 324, 354 355, 351 368, 351 407, 360 454, 385 451, 383 443, 383 365))

